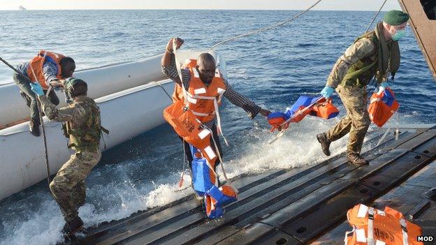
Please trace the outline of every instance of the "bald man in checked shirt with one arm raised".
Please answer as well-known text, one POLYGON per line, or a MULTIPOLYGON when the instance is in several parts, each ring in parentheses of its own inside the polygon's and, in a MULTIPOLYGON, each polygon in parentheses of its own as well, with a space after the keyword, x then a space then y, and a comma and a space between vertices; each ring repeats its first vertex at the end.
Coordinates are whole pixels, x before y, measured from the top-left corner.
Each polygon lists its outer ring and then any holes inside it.
MULTIPOLYGON (((176 39, 177 49, 183 44, 183 42, 184 41, 181 38, 176 39)), ((190 85, 201 86, 202 88, 196 89, 196 91, 204 90, 205 94, 208 94, 208 91, 206 91, 207 89, 218 87, 218 90, 223 91, 224 93, 222 94, 222 96, 226 97, 228 101, 230 101, 234 105, 244 109, 249 114, 249 117, 251 119, 256 117, 256 115, 259 113, 261 113, 264 117, 268 117, 268 114, 270 114, 270 111, 262 109, 261 107, 256 105, 254 102, 250 101, 245 96, 242 96, 237 91, 233 90, 232 87, 230 87, 230 85, 227 83, 227 81, 224 80, 224 78, 219 80, 214 80, 216 74, 219 73, 216 73, 217 67, 216 67, 215 58, 209 53, 202 53, 199 55, 197 59, 197 66, 191 68, 192 74, 189 68, 182 68, 181 70, 182 81, 180 81, 180 77, 177 74, 177 68, 175 65, 175 57, 173 54, 173 38, 171 38, 168 41, 168 45, 166 45, 166 50, 165 50, 165 54, 163 54, 161 66, 162 66, 163 73, 168 75, 168 77, 170 77, 170 79, 177 84, 175 89, 175 95, 173 96, 173 100, 180 99, 177 97, 183 96, 181 92, 177 93, 177 91, 180 91, 180 89, 182 89, 181 86, 182 82, 184 85, 184 89, 186 89, 187 91, 190 90, 189 89, 190 85), (222 81, 223 84, 213 84, 212 80, 217 81, 216 83, 220 83, 222 81)), ((191 90, 192 89, 193 88, 191 88, 191 90)), ((206 101, 198 100, 198 103, 206 103, 206 101)), ((212 138, 217 143, 217 145, 215 146, 213 140, 211 140, 212 142, 210 144, 214 145, 214 147, 212 148, 215 149, 215 147, 217 147, 217 149, 219 150, 219 154, 221 154, 222 156, 221 144, 219 144, 219 138, 217 135, 218 133, 217 126, 215 125, 215 114, 216 114, 215 110, 212 109, 212 113, 208 115, 200 115, 200 114, 201 113, 195 114, 197 119, 199 119, 203 123, 203 125, 207 126, 212 130, 212 138)), ((184 142, 184 149, 186 152, 187 159, 189 163, 191 163, 192 161, 191 149, 189 149, 189 144, 187 142, 184 142)), ((219 160, 215 162, 215 168, 218 164, 219 164, 219 160)))

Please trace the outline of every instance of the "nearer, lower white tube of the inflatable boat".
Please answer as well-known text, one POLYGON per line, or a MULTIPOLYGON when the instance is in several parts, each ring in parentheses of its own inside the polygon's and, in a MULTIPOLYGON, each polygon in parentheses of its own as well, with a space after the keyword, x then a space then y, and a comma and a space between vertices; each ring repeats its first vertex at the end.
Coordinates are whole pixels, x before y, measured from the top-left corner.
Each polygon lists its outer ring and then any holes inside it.
MULTIPOLYGON (((195 58, 197 55, 198 52, 184 52, 181 57, 195 58)), ((226 75, 224 61, 221 62, 221 73, 226 75)), ((106 77, 106 74, 103 76, 106 77)), ((87 77, 87 81, 90 80, 101 80, 101 78, 87 77)), ((117 82, 114 80, 114 83, 117 82)), ((159 83, 168 94, 173 93, 174 83, 172 81, 163 80, 159 83)), ((150 82, 97 98, 96 103, 101 108, 102 125, 110 131, 109 135, 103 134, 106 147, 110 149, 163 124, 162 111, 170 105, 171 100, 157 82, 150 82)), ((67 139, 61 131, 61 124, 48 121, 46 117, 44 117, 44 122, 50 174, 54 175, 73 151, 66 147, 67 139)), ((101 149, 103 148, 102 140, 101 149)), ((0 131, 0 200, 46 177, 43 138, 31 135, 27 123, 0 131)))

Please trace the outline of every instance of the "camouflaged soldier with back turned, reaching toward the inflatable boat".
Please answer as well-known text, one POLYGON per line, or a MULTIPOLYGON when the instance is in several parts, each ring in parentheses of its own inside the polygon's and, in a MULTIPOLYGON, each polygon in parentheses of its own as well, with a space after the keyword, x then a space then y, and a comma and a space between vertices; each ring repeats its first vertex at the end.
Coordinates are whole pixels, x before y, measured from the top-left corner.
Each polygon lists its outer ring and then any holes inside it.
POLYGON ((73 103, 60 109, 43 95, 39 84, 31 84, 31 87, 38 95, 45 115, 50 120, 65 122, 68 148, 75 150, 50 183, 50 191, 66 221, 64 233, 70 237, 82 230, 78 209, 85 204, 85 179, 101 158, 100 109, 92 98, 87 97, 86 82, 77 78, 66 80, 64 89, 73 98, 73 103))

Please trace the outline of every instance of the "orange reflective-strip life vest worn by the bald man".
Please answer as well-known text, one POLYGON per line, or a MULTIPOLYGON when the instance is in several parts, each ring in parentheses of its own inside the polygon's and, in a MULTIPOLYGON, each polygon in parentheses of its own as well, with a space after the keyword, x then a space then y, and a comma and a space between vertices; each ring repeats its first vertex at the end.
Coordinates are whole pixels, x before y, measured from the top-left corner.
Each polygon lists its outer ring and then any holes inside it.
MULTIPOLYGON (((215 100, 217 105, 221 105, 221 98, 226 91, 226 85, 224 84, 224 80, 222 80, 221 73, 219 73, 217 69, 212 82, 210 82, 209 86, 206 86, 200 79, 196 64, 195 59, 189 59, 182 66, 182 68, 188 68, 191 74, 189 89, 187 89, 188 107, 198 120, 207 122, 214 119, 215 100)), ((182 86, 175 84, 173 102, 183 100, 182 86)))

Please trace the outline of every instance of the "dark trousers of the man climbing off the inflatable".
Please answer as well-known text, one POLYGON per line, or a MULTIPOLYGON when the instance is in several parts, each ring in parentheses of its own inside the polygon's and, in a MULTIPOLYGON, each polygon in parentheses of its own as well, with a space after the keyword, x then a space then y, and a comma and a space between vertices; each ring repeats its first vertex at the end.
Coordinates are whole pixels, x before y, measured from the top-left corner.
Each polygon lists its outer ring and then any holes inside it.
MULTIPOLYGON (((20 74, 14 73, 13 80, 15 84, 17 84, 18 87, 20 87, 21 91, 26 94, 27 99, 30 100, 30 119, 34 122, 34 124, 41 124, 39 121, 39 110, 38 110, 38 104, 36 103, 36 94, 34 91, 31 91, 29 80, 26 79, 26 77, 23 77, 20 74)), ((44 94, 47 92, 47 90, 44 90, 44 94)), ((57 98, 56 93, 54 93, 54 89, 50 91, 50 94, 48 94, 48 99, 51 103, 54 105, 59 105, 59 98, 57 98)))

